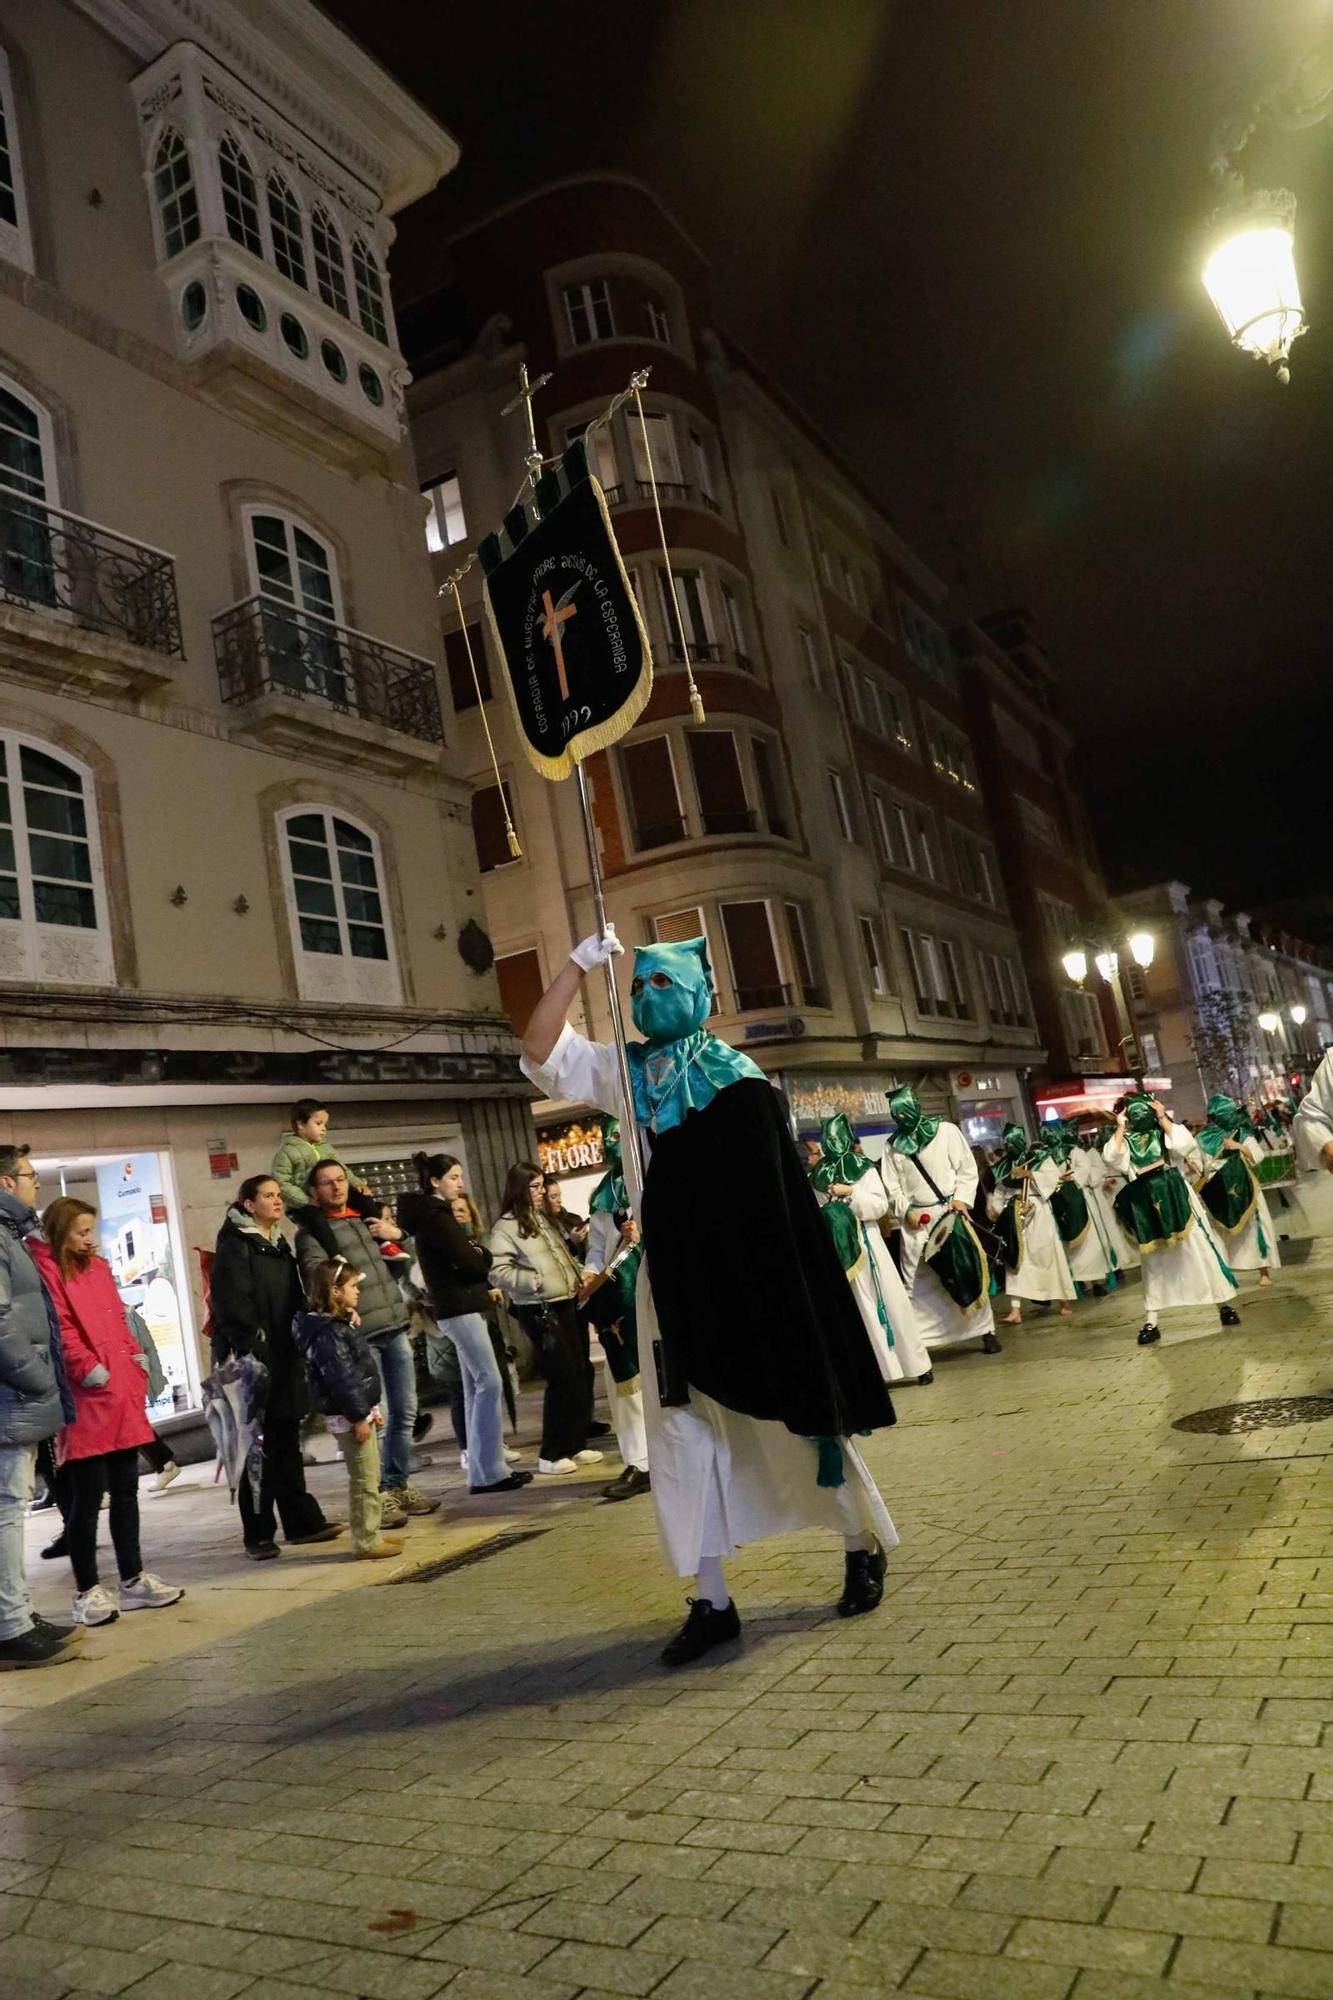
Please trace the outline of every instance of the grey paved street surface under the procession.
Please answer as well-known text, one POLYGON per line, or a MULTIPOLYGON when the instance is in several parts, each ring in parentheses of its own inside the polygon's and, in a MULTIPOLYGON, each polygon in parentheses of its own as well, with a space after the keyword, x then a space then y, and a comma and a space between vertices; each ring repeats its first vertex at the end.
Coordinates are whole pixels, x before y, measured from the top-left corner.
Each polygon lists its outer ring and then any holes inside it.
POLYGON ((650 1506, 594 1482, 226 1616, 222 1502, 146 1504, 212 1522, 196 1624, 0 1682, 0 1994, 1333 1996, 1333 1422, 1171 1428, 1333 1388, 1331 1290, 1325 1240, 1235 1332, 1139 1350, 1135 1288, 941 1358, 869 1446, 883 1610, 763 1544, 745 1646, 675 1676, 650 1506))

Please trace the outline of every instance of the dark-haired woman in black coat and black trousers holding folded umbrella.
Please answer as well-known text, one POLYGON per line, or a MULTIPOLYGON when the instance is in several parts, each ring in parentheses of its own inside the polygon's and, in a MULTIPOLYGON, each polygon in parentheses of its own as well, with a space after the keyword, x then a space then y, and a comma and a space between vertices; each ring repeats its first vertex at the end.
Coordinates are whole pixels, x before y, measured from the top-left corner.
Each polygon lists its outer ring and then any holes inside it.
POLYGON ((310 1388, 292 1342, 292 1320, 304 1306, 304 1294, 282 1234, 282 1190, 272 1174, 242 1180, 212 1260, 212 1366, 234 1354, 254 1354, 268 1370, 258 1502, 248 1480, 236 1490, 252 1562, 270 1562, 280 1554, 274 1540, 278 1520, 290 1544, 332 1542, 342 1534, 342 1524, 324 1520, 318 1500, 306 1492, 300 1424, 310 1410, 310 1388))

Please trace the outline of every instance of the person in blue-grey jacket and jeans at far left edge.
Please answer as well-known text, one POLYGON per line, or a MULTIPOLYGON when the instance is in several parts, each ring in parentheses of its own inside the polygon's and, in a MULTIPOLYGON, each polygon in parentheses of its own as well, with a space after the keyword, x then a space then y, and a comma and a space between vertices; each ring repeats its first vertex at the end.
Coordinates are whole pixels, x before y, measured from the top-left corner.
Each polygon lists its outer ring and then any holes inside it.
POLYGON ((24 1242, 36 1194, 28 1148, 0 1146, 0 1668, 68 1660, 82 1638, 36 1616, 24 1564, 36 1448, 74 1422, 56 1314, 24 1242))

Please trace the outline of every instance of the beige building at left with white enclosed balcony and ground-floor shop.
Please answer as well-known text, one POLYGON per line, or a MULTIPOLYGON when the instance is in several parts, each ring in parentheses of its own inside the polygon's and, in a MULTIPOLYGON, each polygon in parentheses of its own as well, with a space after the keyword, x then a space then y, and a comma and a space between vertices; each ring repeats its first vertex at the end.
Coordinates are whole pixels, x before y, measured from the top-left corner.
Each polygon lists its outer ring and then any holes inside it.
POLYGON ((0 0, 0 1138, 178 1408, 296 1096, 388 1190, 528 1132, 386 280, 454 158, 308 0, 0 0))

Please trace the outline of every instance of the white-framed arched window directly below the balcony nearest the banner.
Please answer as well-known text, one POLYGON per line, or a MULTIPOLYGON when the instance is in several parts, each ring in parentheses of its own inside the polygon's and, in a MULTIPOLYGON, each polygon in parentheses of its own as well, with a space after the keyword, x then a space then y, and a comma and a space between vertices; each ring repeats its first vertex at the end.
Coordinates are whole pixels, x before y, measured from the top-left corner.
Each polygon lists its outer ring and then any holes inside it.
POLYGON ((328 806, 292 806, 280 836, 302 998, 396 1006, 398 966, 374 834, 328 806))

